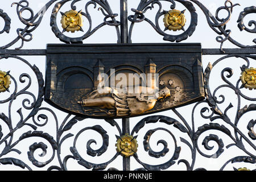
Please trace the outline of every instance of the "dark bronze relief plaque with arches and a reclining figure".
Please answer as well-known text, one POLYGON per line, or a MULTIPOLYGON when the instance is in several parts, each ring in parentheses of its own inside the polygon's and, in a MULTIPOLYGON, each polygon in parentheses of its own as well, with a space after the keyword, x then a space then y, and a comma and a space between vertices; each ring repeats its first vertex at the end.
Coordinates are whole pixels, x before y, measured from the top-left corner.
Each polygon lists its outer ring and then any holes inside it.
POLYGON ((92 118, 134 117, 203 100, 201 44, 48 44, 44 98, 92 118))

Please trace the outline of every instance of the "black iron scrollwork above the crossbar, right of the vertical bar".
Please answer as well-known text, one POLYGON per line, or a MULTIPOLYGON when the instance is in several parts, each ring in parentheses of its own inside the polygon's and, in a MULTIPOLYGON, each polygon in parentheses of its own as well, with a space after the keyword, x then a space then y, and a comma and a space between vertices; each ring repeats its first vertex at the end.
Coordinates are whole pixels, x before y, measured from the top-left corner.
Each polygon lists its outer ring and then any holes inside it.
MULTIPOLYGON (((164 0, 163 0, 164 1, 164 0)), ((163 2, 162 1, 162 2, 163 2)), ((171 3, 171 9, 175 9, 176 7, 176 2, 181 3, 182 5, 184 5, 188 10, 189 13, 191 14, 191 22, 189 27, 187 28, 186 31, 184 31, 182 34, 180 35, 171 35, 171 34, 167 34, 166 32, 164 32, 164 30, 161 30, 160 26, 159 26, 159 18, 160 16, 163 16, 164 14, 166 14, 168 11, 162 10, 162 3, 161 0, 160 1, 156 1, 156 0, 144 0, 141 1, 141 3, 139 3, 139 6, 137 7, 137 9, 131 9, 132 11, 134 11, 134 15, 130 15, 129 16, 129 20, 131 21, 131 26, 130 26, 130 30, 129 30, 129 42, 131 43, 131 34, 133 31, 133 27, 134 27, 134 23, 139 23, 142 21, 146 21, 148 23, 150 23, 150 25, 155 29, 156 32, 158 32, 158 34, 163 35, 163 39, 167 40, 167 41, 171 41, 171 42, 181 42, 185 39, 188 38, 188 36, 191 36, 193 34, 193 32, 195 31, 195 28, 197 26, 197 14, 196 14, 196 10, 195 7, 193 6, 193 3, 195 3, 197 6, 200 7, 200 9, 203 11, 203 13, 205 14, 205 17, 207 18, 207 22, 209 24, 209 27, 212 28, 212 30, 214 32, 216 32, 219 36, 217 36, 216 40, 217 42, 221 43, 220 49, 222 52, 222 46, 223 43, 226 40, 229 40, 230 42, 232 42, 233 44, 235 44, 238 47, 241 48, 245 48, 245 47, 256 47, 254 46, 245 46, 241 43, 238 43, 236 40, 234 40, 230 34, 231 34, 231 30, 226 30, 226 24, 229 22, 229 20, 231 19, 232 16, 232 12, 233 12, 233 7, 238 6, 239 4, 236 3, 233 5, 233 3, 230 0, 225 1, 225 6, 221 6, 218 7, 218 9, 216 10, 216 16, 213 16, 212 13, 210 13, 210 11, 207 9, 207 7, 205 7, 203 5, 203 3, 197 1, 197 0, 190 0, 189 1, 178 1, 178 0, 168 0, 167 2, 171 3), (153 23, 150 19, 147 19, 146 16, 144 15, 144 13, 146 13, 146 11, 148 9, 152 9, 154 8, 154 5, 157 4, 159 6, 159 10, 158 13, 155 16, 155 23, 153 23), (226 16, 226 18, 220 18, 219 14, 221 10, 225 10, 227 11, 228 15, 226 16), (224 38, 221 36, 223 35, 224 38)), ((251 6, 251 7, 246 7, 244 11, 242 11, 240 13, 240 16, 237 20, 238 27, 240 28, 240 30, 246 30, 250 33, 255 33, 255 28, 254 29, 249 29, 247 28, 244 24, 243 24, 243 18, 247 15, 247 14, 251 14, 251 13, 255 13, 255 6, 251 6)), ((251 20, 249 22, 249 26, 255 25, 255 20, 251 20)), ((253 40, 253 42, 255 43, 255 39, 253 40)))

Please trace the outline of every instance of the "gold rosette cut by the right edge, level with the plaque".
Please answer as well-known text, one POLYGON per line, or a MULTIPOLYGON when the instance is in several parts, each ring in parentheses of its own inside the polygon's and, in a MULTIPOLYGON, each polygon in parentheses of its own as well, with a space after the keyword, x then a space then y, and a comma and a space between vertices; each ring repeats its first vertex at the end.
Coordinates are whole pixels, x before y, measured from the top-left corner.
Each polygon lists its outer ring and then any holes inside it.
POLYGON ((256 89, 256 69, 246 68, 245 71, 241 73, 241 81, 244 88, 249 90, 256 89))

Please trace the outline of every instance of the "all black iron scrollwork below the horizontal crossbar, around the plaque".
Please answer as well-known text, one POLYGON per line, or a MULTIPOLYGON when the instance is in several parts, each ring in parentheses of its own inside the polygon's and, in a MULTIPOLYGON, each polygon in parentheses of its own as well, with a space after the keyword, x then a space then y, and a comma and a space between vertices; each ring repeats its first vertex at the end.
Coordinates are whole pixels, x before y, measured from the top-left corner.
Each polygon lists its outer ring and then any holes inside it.
MULTIPOLYGON (((179 130, 181 133, 187 134, 188 137, 191 139, 190 141, 187 139, 184 139, 184 138, 177 139, 176 136, 174 134, 172 134, 172 131, 170 131, 166 128, 163 128, 163 127, 158 127, 156 129, 148 130, 147 133, 144 135, 144 141, 143 141, 144 150, 148 152, 148 155, 150 155, 151 157, 154 157, 154 158, 162 158, 162 157, 166 156, 166 154, 168 152, 170 152, 167 142, 162 139, 159 140, 157 143, 163 144, 163 149, 158 152, 155 152, 154 150, 152 150, 152 148, 150 146, 150 138, 151 138, 151 135, 154 134, 156 131, 166 131, 168 134, 171 135, 171 138, 174 140, 174 154, 172 155, 171 159, 168 160, 166 163, 159 164, 159 165, 151 165, 151 164, 143 163, 141 161, 141 159, 139 158, 139 155, 134 154, 133 157, 137 160, 137 162, 139 164, 141 164, 144 167, 144 169, 147 169, 147 170, 167 169, 167 168, 170 168, 173 164, 175 164, 176 160, 177 160, 177 164, 184 163, 188 170, 204 170, 204 168, 194 169, 197 151, 199 152, 200 155, 204 156, 205 158, 218 158, 225 152, 225 150, 227 150, 226 148, 229 148, 231 146, 236 146, 237 148, 239 148, 240 150, 245 152, 247 154, 247 156, 237 156, 236 158, 229 159, 220 168, 221 170, 223 170, 230 163, 231 164, 233 164, 233 163, 255 164, 255 162, 256 162, 255 155, 253 153, 251 153, 249 150, 247 150, 247 147, 245 145, 245 142, 246 142, 247 145, 249 145, 251 148, 253 148, 253 150, 256 149, 255 144, 253 143, 253 141, 255 140, 255 131, 253 129, 255 126, 255 120, 251 119, 248 122, 247 135, 242 133, 242 131, 238 127, 238 123, 240 122, 240 120, 242 119, 244 114, 246 114, 250 111, 256 110, 255 104, 241 107, 241 97, 245 98, 246 100, 250 100, 250 101, 255 101, 256 98, 247 97, 247 96, 245 96, 245 94, 242 93, 243 88, 241 88, 241 79, 240 78, 238 78, 236 85, 233 85, 232 82, 230 82, 228 80, 228 78, 231 78, 233 76, 233 71, 231 68, 224 68, 221 71, 221 78, 222 78, 222 80, 224 80, 224 82, 226 84, 218 86, 214 90, 213 93, 211 92, 211 90, 209 88, 210 72, 212 72, 212 69, 214 68, 214 66, 216 64, 220 63, 222 60, 225 60, 229 57, 242 58, 246 62, 246 65, 242 65, 241 69, 250 67, 250 61, 249 61, 248 57, 255 59, 255 57, 251 56, 251 55, 228 55, 228 56, 221 57, 220 59, 215 61, 213 65, 211 65, 211 64, 208 65, 208 68, 205 71, 205 90, 207 93, 207 100, 200 101, 193 107, 192 127, 188 124, 188 122, 180 115, 180 113, 176 109, 173 109, 172 111, 174 111, 174 113, 180 118, 180 120, 182 122, 179 122, 174 118, 170 118, 170 117, 166 117, 166 116, 162 116, 162 115, 154 115, 154 116, 150 116, 150 117, 146 117, 146 118, 142 119, 141 121, 139 121, 137 123, 137 125, 134 126, 134 129, 131 131, 131 135, 134 135, 135 133, 139 134, 139 131, 144 126, 146 126, 148 123, 158 123, 158 122, 165 123, 166 125, 173 125, 177 130, 179 130), (228 73, 228 75, 225 76, 226 72, 228 73), (237 114, 236 114, 236 118, 234 119, 234 121, 232 121, 228 115, 229 109, 231 109, 233 107, 232 104, 229 104, 228 107, 226 107, 226 109, 224 111, 222 111, 220 109, 220 107, 218 107, 218 105, 224 104, 224 102, 225 102, 224 95, 221 94, 219 96, 221 98, 221 100, 217 100, 217 97, 216 97, 217 90, 219 90, 221 88, 233 89, 238 97, 237 114), (197 107, 199 107, 199 105, 204 104, 204 103, 207 103, 209 105, 209 107, 203 107, 200 110, 200 115, 204 119, 209 119, 210 123, 205 123, 204 125, 198 127, 198 129, 196 130, 195 129, 195 121, 194 121, 195 109, 197 107), (206 111, 208 111, 208 112, 211 111, 211 112, 209 115, 205 115, 206 111), (225 122, 225 125, 220 125, 220 123, 216 122, 217 119, 222 119, 222 121, 225 122), (229 128, 227 126, 229 126, 229 128), (233 131, 230 130, 230 127, 233 128, 233 131), (213 151, 214 147, 210 146, 209 142, 214 141, 217 143, 218 148, 217 148, 217 151, 211 155, 204 154, 204 152, 200 150, 200 145, 198 143, 199 138, 206 131, 214 131, 214 130, 221 131, 222 133, 224 133, 226 135, 226 137, 229 137, 230 139, 233 140, 233 143, 227 144, 218 135, 209 134, 203 139, 203 142, 201 144, 204 146, 204 148, 206 150, 213 151), (186 159, 180 159, 181 158, 181 156, 180 156, 181 147, 178 146, 177 142, 184 143, 191 149, 191 154, 192 154, 192 162, 191 163, 189 163, 188 160, 186 160, 186 159)), ((63 135, 63 134, 65 132, 68 132, 69 130, 71 130, 74 125, 76 125, 78 122, 80 122, 86 118, 75 116, 75 117, 69 119, 71 117, 71 115, 69 114, 69 115, 67 115, 67 117, 64 119, 64 121, 59 126, 59 122, 57 120, 56 114, 51 109, 48 109, 46 107, 41 107, 42 96, 43 96, 42 88, 43 88, 44 82, 43 82, 43 78, 42 78, 42 73, 40 73, 38 68, 30 65, 26 60, 24 60, 18 56, 6 55, 6 56, 1 57, 1 59, 3 59, 3 58, 18 59, 18 60, 22 61, 23 63, 29 65, 30 68, 32 69, 32 71, 34 71, 36 77, 38 78, 39 93, 38 93, 38 97, 36 98, 32 93, 27 91, 27 89, 31 86, 31 78, 26 73, 23 73, 22 75, 20 75, 19 81, 21 83, 24 83, 25 82, 24 77, 28 78, 27 86, 25 86, 25 88, 23 88, 22 90, 18 91, 18 89, 17 89, 18 83, 15 81, 15 78, 11 75, 11 72, 10 72, 10 77, 14 82, 15 88, 11 89, 11 90, 14 90, 13 92, 10 93, 11 96, 9 98, 7 98, 6 100, 1 101, 1 104, 9 102, 10 103, 9 105, 11 107, 15 98, 19 97, 22 94, 24 94, 24 95, 28 94, 29 96, 32 96, 32 101, 30 101, 28 99, 22 100, 22 105, 23 105, 24 109, 30 110, 30 114, 28 114, 27 117, 24 117, 24 115, 22 113, 22 109, 19 109, 17 112, 20 115, 20 121, 16 125, 13 125, 12 118, 11 118, 11 110, 9 110, 9 113, 10 113, 9 116, 5 115, 4 113, 1 113, 1 115, 0 115, 1 121, 3 123, 5 123, 5 125, 7 125, 10 129, 9 134, 5 135, 5 134, 3 134, 2 131, 0 134, 0 136, 1 136, 0 142, 5 143, 5 148, 3 149, 3 151, 0 154, 0 163, 1 164, 14 164, 21 168, 31 169, 31 167, 29 167, 28 164, 22 162, 22 160, 14 159, 14 158, 3 158, 3 156, 5 156, 6 154, 9 154, 9 152, 11 152, 11 151, 15 151, 15 152, 18 152, 18 154, 20 154, 20 151, 17 150, 15 148, 15 146, 18 143, 22 142, 22 140, 26 140, 27 138, 32 138, 32 137, 40 137, 40 138, 46 139, 47 142, 51 145, 52 150, 53 150, 53 154, 50 159, 48 159, 46 162, 40 162, 39 160, 37 160, 35 158, 34 152, 38 148, 41 148, 43 152, 42 152, 42 154, 40 154, 40 156, 46 155, 47 144, 44 142, 39 142, 39 143, 35 142, 35 143, 31 144, 31 146, 29 147, 29 150, 28 150, 28 159, 32 162, 32 164, 34 166, 44 167, 44 166, 49 165, 52 162, 52 160, 55 158, 55 153, 57 154, 57 158, 59 159, 60 166, 50 166, 50 167, 48 167, 48 170, 52 170, 52 169, 67 170, 68 169, 67 161, 69 159, 77 160, 77 162, 81 166, 84 166, 85 168, 88 168, 88 169, 93 168, 94 170, 102 170, 102 169, 105 169, 106 167, 108 167, 108 165, 110 163, 112 163, 114 159, 117 158, 117 156, 119 155, 118 152, 108 162, 101 163, 101 164, 94 164, 94 163, 86 161, 86 159, 82 158, 82 156, 79 154, 79 151, 76 148, 76 141, 79 138, 79 136, 81 135, 81 133, 84 133, 84 131, 86 131, 86 130, 97 131, 98 133, 101 134, 101 137, 103 140, 102 146, 100 148, 98 148, 98 150, 93 150, 90 147, 90 144, 96 143, 96 140, 94 140, 94 139, 88 140, 88 142, 86 144, 87 154, 90 156, 96 156, 96 155, 99 156, 106 152, 106 150, 108 148, 108 142, 109 142, 108 141, 108 139, 109 139, 108 133, 101 126, 96 125, 96 126, 92 126, 92 127, 85 127, 84 129, 80 130, 79 133, 77 133, 74 138, 73 146, 70 148, 72 155, 67 155, 64 157, 64 159, 61 159, 61 152, 60 152, 61 145, 63 144, 63 142, 66 139, 74 136, 71 133, 68 133, 65 135, 63 135), (55 118, 56 139, 54 139, 48 133, 44 133, 43 131, 38 130, 39 127, 45 126, 48 123, 48 114, 42 114, 41 113, 42 111, 49 112, 50 114, 53 115, 53 118, 55 118), (35 125, 33 125, 31 123, 27 123, 29 118, 32 118, 32 121, 34 122, 35 125), (43 122, 41 121, 42 119, 44 120, 43 122), (27 131, 26 133, 22 134, 18 140, 13 142, 13 137, 14 137, 15 131, 19 130, 20 128, 22 128, 25 125, 30 126, 35 131, 27 131), (7 142, 8 138, 10 138, 9 142, 7 142)), ((111 126, 115 126, 119 132, 119 135, 122 135, 121 129, 119 128, 118 123, 116 121, 114 121, 114 119, 107 119, 106 122, 109 123, 111 126)), ((114 169, 115 168, 109 168, 109 170, 114 170, 114 169)), ((236 169, 236 168, 234 168, 234 169, 236 169)), ((142 169, 137 169, 137 170, 142 170, 142 169)))

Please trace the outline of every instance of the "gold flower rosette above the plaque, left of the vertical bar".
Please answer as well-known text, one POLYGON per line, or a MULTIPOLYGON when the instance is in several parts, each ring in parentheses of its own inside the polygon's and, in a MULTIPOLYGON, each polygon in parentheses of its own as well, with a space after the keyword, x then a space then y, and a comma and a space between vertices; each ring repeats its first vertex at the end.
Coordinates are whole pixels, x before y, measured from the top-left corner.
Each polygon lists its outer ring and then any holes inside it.
POLYGON ((62 28, 67 32, 75 32, 81 30, 82 14, 76 10, 66 11, 61 17, 62 28))

